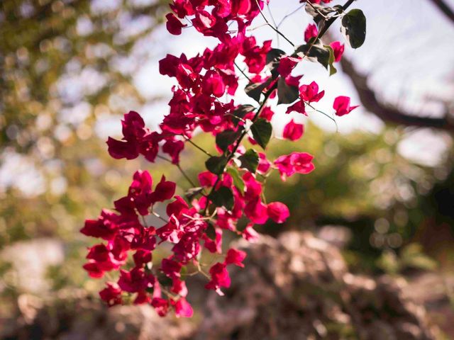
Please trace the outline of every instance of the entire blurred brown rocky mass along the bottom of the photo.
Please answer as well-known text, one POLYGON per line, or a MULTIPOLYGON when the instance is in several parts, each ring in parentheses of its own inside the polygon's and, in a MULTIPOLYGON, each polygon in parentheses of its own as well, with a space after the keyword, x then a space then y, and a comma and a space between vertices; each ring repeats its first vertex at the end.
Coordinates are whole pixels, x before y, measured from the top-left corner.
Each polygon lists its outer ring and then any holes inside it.
MULTIPOLYGON (((406 282, 348 272, 340 251, 309 232, 262 236, 226 296, 196 292, 193 319, 157 317, 150 306, 106 308, 83 293, 21 297, 20 316, 0 320, 2 339, 438 339, 406 282), (203 297, 203 298, 200 298, 203 297)), ((196 285, 203 289, 203 285, 196 285)))

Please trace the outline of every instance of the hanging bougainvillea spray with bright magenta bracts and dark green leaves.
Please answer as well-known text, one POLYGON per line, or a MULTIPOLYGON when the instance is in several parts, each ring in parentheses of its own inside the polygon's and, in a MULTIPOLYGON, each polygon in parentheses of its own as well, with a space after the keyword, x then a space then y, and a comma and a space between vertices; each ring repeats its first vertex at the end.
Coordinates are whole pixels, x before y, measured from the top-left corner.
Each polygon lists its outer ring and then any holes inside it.
MULTIPOLYGON (((265 16, 262 10, 269 2, 173 0, 170 4, 172 11, 165 16, 169 33, 181 35, 194 29, 218 44, 195 56, 163 57, 160 74, 174 78, 177 85, 171 89, 169 112, 160 129, 150 130, 140 114, 131 111, 121 120, 123 137, 109 137, 107 145, 114 159, 141 155, 151 163, 159 159, 175 164, 190 188, 185 197, 175 195, 177 183, 165 176, 153 179, 148 171, 138 170, 126 196, 116 200, 112 210, 104 209, 95 220, 85 221, 81 232, 102 242, 88 249, 84 269, 93 278, 105 278, 110 272, 99 292, 107 305, 148 303, 161 316, 173 310, 177 317, 191 317, 194 312, 187 300, 186 280, 201 274, 207 289, 223 295, 231 285, 229 268, 243 268, 247 261, 244 251, 223 244, 223 236, 233 233, 256 242, 260 237, 257 225, 284 223, 289 218, 284 203, 266 203, 265 180, 273 171, 283 181, 294 174, 309 174, 315 169, 314 157, 292 152, 268 159, 274 106, 284 105, 287 113, 306 116, 320 112, 314 105, 323 100, 325 91, 315 81, 301 84, 302 74, 292 73, 306 62, 319 62, 330 74, 336 72, 333 62, 341 60, 344 45, 323 45, 321 38, 333 20, 353 15, 345 11, 353 1, 336 8, 325 6, 328 0, 299 1, 327 16, 318 18, 314 12, 316 24, 300 30, 303 45, 294 45, 279 32, 289 42, 288 53, 274 48, 274 40, 258 42, 250 30, 256 18, 265 16), (257 105, 236 102, 242 79, 248 80, 245 93, 257 105), (194 143, 196 131, 216 138, 217 154, 194 143), (250 144, 243 144, 246 140, 250 144), (191 179, 179 165, 180 154, 188 146, 207 156, 206 170, 197 179, 191 179), (202 252, 211 254, 210 264, 201 261, 202 252)), ((355 22, 348 21, 348 25, 355 22)), ((354 29, 348 27, 349 32, 354 29)), ((333 108, 341 116, 356 106, 341 96, 333 108)), ((303 132, 304 125, 292 119, 285 125, 283 137, 297 141, 303 132)))

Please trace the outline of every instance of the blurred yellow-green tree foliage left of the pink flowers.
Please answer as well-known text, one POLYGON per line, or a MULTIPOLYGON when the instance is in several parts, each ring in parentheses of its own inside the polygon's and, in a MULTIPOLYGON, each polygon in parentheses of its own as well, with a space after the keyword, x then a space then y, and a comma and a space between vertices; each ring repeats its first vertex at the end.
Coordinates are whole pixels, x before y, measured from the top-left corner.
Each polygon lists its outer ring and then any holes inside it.
POLYGON ((143 104, 131 77, 166 3, 1 1, 0 246, 72 234, 121 184, 95 123, 143 104))

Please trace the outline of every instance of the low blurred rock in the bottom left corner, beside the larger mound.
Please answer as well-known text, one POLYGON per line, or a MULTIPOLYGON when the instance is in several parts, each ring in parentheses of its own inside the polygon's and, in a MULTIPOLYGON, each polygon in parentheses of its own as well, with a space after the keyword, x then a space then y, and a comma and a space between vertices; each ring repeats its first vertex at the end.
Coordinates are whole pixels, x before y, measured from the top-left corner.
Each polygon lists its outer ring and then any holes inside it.
POLYGON ((159 317, 150 305, 108 308, 82 291, 60 292, 50 299, 25 295, 19 299, 21 310, 34 317, 21 314, 14 327, 11 322, 1 329, 0 339, 174 340, 189 339, 194 333, 189 320, 159 317))

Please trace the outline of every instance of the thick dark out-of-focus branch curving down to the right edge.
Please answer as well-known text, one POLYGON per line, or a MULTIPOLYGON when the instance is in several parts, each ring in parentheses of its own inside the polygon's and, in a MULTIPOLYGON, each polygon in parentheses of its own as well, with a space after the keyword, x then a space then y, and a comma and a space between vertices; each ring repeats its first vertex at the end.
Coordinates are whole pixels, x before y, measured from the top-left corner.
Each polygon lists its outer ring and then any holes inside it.
POLYGON ((436 128, 454 132, 454 120, 448 117, 448 113, 443 118, 421 117, 418 115, 409 115, 393 106, 387 106, 377 100, 375 91, 367 84, 367 76, 360 74, 352 62, 345 56, 341 60, 341 65, 343 72, 350 77, 353 86, 358 91, 362 106, 382 120, 394 124, 416 126, 419 128, 436 128))

